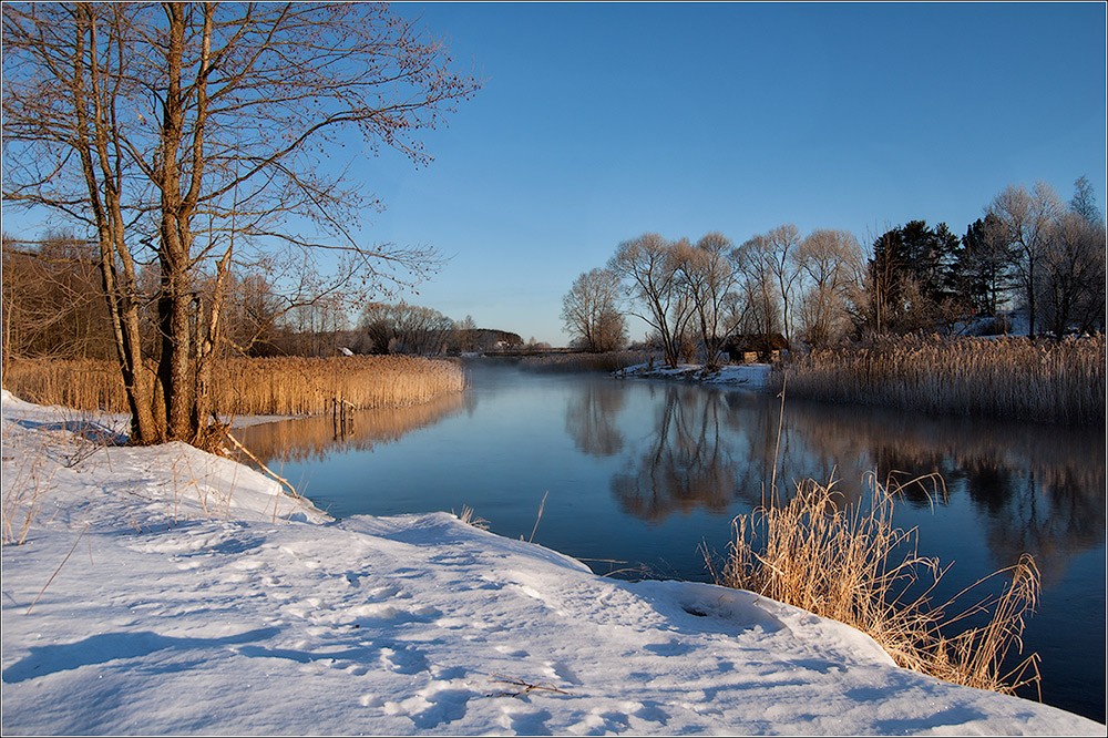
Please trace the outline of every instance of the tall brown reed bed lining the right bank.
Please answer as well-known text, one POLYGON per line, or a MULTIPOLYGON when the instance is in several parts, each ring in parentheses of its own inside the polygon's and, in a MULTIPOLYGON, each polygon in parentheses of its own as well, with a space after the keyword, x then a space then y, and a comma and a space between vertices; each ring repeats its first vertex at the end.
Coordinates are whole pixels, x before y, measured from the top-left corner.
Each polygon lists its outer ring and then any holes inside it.
POLYGON ((787 371, 793 397, 1042 422, 1105 418, 1104 336, 885 339, 812 351, 787 371))

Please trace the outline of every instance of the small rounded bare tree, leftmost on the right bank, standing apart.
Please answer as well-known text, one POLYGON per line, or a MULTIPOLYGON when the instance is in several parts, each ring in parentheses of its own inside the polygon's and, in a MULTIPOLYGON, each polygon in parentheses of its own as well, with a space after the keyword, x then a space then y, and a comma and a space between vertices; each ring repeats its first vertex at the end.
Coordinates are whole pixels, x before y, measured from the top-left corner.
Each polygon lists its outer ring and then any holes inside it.
POLYGON ((562 298, 567 334, 586 351, 614 351, 627 341, 627 322, 617 307, 619 277, 611 269, 579 275, 562 298))

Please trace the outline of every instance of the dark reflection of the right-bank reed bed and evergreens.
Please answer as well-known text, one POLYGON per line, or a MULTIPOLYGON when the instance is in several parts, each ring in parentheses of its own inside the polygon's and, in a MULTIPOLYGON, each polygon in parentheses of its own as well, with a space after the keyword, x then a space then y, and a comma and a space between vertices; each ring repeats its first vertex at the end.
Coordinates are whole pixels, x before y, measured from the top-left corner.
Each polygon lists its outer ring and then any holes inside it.
POLYGON ((873 409, 794 403, 787 422, 804 437, 800 455, 835 449, 844 481, 937 472, 947 498, 905 490, 915 506, 964 494, 978 513, 996 567, 1030 552, 1049 584, 1075 553, 1105 535, 1105 431, 873 409))

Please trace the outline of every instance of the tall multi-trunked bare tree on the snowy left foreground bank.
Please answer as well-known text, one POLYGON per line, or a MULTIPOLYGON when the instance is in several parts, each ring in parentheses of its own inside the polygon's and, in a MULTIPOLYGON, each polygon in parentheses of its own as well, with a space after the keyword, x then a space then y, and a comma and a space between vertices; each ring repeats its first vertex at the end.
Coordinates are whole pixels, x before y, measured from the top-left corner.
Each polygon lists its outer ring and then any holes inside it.
POLYGON ((99 244, 132 442, 207 443, 235 260, 326 253, 331 293, 435 265, 429 249, 361 243, 359 216, 380 204, 329 161, 355 132, 424 163, 421 132, 476 90, 387 7, 6 3, 3 39, 3 195, 99 244), (143 265, 157 275, 153 371, 143 265))

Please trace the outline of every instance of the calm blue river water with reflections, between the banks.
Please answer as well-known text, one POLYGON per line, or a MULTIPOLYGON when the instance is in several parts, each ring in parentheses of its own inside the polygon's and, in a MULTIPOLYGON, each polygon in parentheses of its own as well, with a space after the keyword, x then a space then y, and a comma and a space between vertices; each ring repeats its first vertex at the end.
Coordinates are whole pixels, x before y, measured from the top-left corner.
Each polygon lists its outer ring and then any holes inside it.
MULTIPOLYGON (((922 418, 665 381, 534 375, 473 363, 470 389, 431 406, 260 426, 240 438, 339 517, 454 511, 628 577, 710 581, 731 520, 773 475, 827 481, 938 472, 895 522, 953 564, 935 599, 1020 553, 1043 591, 1026 650, 1043 699, 1105 721, 1105 429, 922 418), (778 448, 778 426, 781 426, 778 448), (546 498, 543 504, 543 498, 546 498), (538 517, 542 505, 542 516, 538 517), (537 521, 537 525, 536 525, 537 521)), ((998 586, 998 585, 997 585, 998 586)), ((995 588, 995 587, 994 587, 995 588)), ((1034 698, 1035 694, 1026 695, 1034 698)))

